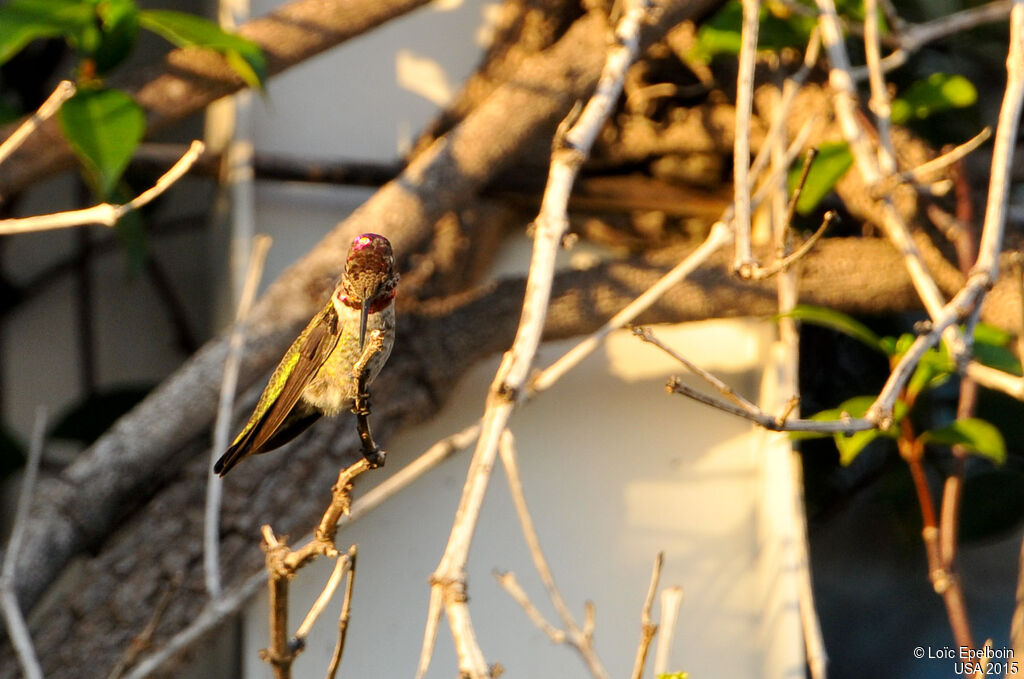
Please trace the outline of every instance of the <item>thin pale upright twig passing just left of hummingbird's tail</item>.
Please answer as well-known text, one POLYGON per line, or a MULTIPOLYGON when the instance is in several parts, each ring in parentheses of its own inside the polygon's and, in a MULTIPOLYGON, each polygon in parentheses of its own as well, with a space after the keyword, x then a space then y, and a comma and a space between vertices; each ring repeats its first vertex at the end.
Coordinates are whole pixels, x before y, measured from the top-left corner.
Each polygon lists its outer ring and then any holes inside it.
POLYGON ((224 376, 220 383, 220 401, 217 404, 217 419, 213 426, 213 448, 210 450, 210 472, 206 486, 206 514, 203 521, 203 570, 206 591, 213 597, 220 596, 220 499, 223 494, 223 479, 213 472, 213 463, 227 448, 230 436, 231 411, 234 408, 234 392, 239 383, 239 367, 242 364, 242 347, 245 344, 245 323, 249 317, 256 298, 263 263, 270 248, 269 236, 259 236, 253 240, 246 267, 245 284, 234 315, 234 327, 227 344, 224 358, 224 376))

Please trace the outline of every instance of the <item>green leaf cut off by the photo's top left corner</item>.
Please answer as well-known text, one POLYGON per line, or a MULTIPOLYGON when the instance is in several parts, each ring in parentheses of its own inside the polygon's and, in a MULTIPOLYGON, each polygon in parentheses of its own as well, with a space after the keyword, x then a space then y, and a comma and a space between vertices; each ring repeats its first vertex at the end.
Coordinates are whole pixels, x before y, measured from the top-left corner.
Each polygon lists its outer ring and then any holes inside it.
POLYGON ((11 0, 0 7, 0 65, 37 38, 73 40, 89 29, 93 15, 92 6, 79 0, 11 0))

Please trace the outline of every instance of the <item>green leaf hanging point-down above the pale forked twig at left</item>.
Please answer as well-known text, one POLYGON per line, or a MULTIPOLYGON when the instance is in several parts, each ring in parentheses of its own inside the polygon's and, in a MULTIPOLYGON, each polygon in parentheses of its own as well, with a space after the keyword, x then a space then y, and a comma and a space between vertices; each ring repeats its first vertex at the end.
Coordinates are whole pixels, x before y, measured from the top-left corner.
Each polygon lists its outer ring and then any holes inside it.
POLYGON ((110 197, 145 133, 145 114, 116 89, 79 90, 57 114, 60 129, 103 200, 110 197))

